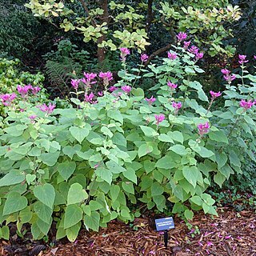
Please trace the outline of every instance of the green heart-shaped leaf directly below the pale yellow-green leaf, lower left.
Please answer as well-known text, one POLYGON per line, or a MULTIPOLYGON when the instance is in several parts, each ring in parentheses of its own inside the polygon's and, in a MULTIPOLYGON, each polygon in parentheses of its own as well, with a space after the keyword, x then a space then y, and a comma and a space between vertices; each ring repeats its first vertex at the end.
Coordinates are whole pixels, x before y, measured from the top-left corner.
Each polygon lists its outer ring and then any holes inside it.
POLYGON ((66 206, 64 217, 64 229, 74 226, 82 220, 82 209, 77 205, 66 206))

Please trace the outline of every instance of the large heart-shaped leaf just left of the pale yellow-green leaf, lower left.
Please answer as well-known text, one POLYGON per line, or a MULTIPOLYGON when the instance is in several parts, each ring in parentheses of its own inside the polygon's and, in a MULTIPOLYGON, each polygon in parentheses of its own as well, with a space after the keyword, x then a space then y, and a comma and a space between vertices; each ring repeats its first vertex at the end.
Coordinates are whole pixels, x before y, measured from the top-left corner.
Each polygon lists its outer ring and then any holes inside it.
POLYGON ((46 183, 43 186, 34 187, 34 196, 38 200, 44 203, 46 206, 49 206, 50 209, 54 206, 55 190, 54 186, 46 183))

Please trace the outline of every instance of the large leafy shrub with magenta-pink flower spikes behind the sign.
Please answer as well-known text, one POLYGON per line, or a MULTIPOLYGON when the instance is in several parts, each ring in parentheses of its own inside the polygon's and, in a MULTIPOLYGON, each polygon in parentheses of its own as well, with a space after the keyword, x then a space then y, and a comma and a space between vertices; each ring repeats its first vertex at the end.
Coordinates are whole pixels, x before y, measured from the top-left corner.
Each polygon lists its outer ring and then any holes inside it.
POLYGON ((9 238, 10 222, 18 233, 29 223, 34 239, 54 222, 57 239, 74 241, 82 226, 98 231, 115 218, 133 221, 141 204, 186 219, 201 209, 217 214, 207 187, 241 173, 245 154, 255 162, 256 76, 246 73, 241 55, 241 74, 222 70, 226 90, 204 92, 196 80, 203 54, 184 40, 178 34, 174 51, 148 70, 142 54, 134 74, 126 66, 130 50, 121 48, 121 79, 112 85, 108 71, 72 80, 74 107, 34 105, 27 94, 7 102, 2 238, 9 238), (148 77, 155 86, 145 95, 139 85, 148 77), (103 90, 95 93, 98 81, 103 90), (225 106, 214 110, 222 97, 225 106))

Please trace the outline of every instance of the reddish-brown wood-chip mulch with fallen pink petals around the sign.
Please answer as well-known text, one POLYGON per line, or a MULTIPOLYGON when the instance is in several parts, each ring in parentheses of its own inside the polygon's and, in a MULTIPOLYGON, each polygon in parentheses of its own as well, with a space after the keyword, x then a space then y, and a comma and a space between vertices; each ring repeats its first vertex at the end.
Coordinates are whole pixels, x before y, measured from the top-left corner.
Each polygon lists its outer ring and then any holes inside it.
POLYGON ((45 256, 94 255, 218 255, 256 256, 256 214, 252 210, 239 213, 230 208, 218 208, 218 217, 198 213, 190 222, 198 229, 189 230, 186 223, 174 218, 175 228, 169 230, 168 247, 164 246, 162 232, 155 231, 150 218, 136 218, 133 226, 110 222, 99 233, 81 231, 77 241, 58 242, 49 247, 14 241, 0 243, 0 254, 45 256), (138 229, 138 230, 137 230, 138 229), (12 250, 12 246, 15 250, 12 250), (41 246, 41 247, 40 247, 41 246), (18 248, 25 248, 26 250, 18 248), (41 250, 41 252, 40 252, 41 250))

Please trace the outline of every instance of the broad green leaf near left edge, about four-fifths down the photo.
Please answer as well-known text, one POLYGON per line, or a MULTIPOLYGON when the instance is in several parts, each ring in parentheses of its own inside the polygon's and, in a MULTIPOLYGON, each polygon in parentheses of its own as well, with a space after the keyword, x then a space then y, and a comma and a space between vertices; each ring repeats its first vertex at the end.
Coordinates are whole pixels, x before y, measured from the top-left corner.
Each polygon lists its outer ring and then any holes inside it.
POLYGON ((3 208, 3 215, 13 214, 26 208, 26 206, 26 197, 21 196, 18 192, 11 191, 7 196, 6 203, 3 208))

